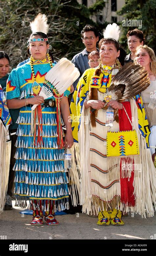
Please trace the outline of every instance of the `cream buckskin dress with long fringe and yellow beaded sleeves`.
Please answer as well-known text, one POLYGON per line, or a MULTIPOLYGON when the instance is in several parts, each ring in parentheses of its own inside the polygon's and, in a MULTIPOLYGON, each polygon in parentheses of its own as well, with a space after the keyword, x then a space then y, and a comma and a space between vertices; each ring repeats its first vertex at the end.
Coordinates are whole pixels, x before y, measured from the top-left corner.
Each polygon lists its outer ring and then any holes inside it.
MULTIPOLYGON (((98 110, 95 118, 96 127, 92 127, 90 109, 84 108, 85 100, 90 99, 90 84, 94 72, 95 69, 85 71, 79 80, 70 105, 74 137, 73 168, 70 172, 73 202, 77 204, 79 194, 82 211, 91 215, 97 215, 100 210, 116 208, 121 211, 139 213, 142 217, 146 215, 151 217, 154 215, 152 202, 155 203, 155 168, 150 156, 148 144, 150 131, 142 99, 138 95, 125 103, 129 105, 133 117, 132 123, 138 135, 140 155, 129 156, 125 160, 124 158, 121 160, 120 157, 108 159, 106 137, 109 128, 105 126, 106 111, 98 110), (127 161, 131 164, 126 165, 124 169, 122 164, 126 164, 127 161)), ((117 72, 117 68, 113 69, 112 77, 117 72)), ((97 90, 98 100, 101 101, 110 85, 107 75, 104 72, 100 74, 100 88, 97 90)), ((119 124, 116 121, 111 131, 119 131, 119 124)))

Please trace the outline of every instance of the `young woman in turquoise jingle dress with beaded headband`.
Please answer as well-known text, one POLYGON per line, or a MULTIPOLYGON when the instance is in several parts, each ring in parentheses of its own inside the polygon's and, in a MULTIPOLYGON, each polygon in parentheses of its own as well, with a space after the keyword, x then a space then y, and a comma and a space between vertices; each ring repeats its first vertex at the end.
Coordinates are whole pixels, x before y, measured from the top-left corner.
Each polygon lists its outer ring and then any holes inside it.
MULTIPOLYGON (((45 74, 52 68, 50 56, 47 54, 48 47, 46 34, 42 32, 31 34, 30 62, 13 69, 7 83, 8 107, 21 108, 17 120, 19 126, 15 144, 17 150, 14 165, 16 171, 14 193, 19 200, 19 205, 23 204, 23 200, 31 200, 33 210, 31 225, 43 224, 43 210, 45 210, 46 224, 58 225, 54 217, 56 209, 59 211, 69 209, 64 149, 60 149, 57 145, 57 110, 55 105, 50 107, 48 103, 44 103, 43 97, 38 95, 45 74), (36 121, 36 136, 34 136, 31 130, 31 106, 43 103, 42 117, 36 121), (42 124, 42 132, 38 122, 42 124), (40 144, 37 142, 39 135, 42 137, 40 144)), ((68 122, 70 114, 67 97, 69 94, 70 88, 65 91, 60 108, 66 126, 64 146, 70 148, 73 144, 73 137, 71 125, 68 122)), ((55 103, 54 97, 51 100, 55 103)), ((30 209, 30 205, 28 208, 30 209)))

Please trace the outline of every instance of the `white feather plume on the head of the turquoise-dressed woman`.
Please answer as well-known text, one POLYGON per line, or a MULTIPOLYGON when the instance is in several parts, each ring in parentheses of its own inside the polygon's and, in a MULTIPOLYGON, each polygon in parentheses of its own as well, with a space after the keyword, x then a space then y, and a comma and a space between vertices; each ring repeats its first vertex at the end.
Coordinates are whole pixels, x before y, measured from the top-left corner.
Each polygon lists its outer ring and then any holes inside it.
POLYGON ((32 33, 42 32, 44 34, 47 34, 48 28, 49 28, 47 21, 48 21, 48 19, 47 19, 46 15, 39 13, 36 16, 35 20, 30 22, 30 27, 31 27, 32 33))

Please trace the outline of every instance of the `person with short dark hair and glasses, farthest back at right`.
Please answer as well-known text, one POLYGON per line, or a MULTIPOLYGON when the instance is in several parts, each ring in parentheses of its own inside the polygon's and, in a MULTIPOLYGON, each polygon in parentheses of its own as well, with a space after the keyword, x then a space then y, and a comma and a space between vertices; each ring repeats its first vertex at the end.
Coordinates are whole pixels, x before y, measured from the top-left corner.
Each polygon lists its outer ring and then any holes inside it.
POLYGON ((131 51, 130 54, 126 55, 125 63, 133 62, 135 57, 136 48, 139 45, 145 44, 145 37, 143 35, 143 31, 135 28, 133 30, 129 30, 127 33, 127 44, 128 48, 131 51))

